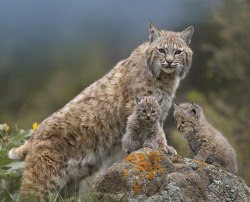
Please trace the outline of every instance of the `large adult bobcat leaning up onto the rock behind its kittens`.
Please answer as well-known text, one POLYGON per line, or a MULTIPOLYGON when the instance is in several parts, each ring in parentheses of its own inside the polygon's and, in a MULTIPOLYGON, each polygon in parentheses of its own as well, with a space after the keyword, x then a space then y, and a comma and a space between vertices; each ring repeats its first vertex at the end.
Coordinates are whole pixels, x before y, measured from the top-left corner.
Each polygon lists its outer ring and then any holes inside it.
POLYGON ((150 22, 148 42, 45 119, 26 144, 10 150, 10 158, 25 159, 21 197, 47 200, 53 190, 92 175, 114 151, 122 151, 135 95, 163 95, 163 125, 191 66, 193 31, 159 30, 150 22))

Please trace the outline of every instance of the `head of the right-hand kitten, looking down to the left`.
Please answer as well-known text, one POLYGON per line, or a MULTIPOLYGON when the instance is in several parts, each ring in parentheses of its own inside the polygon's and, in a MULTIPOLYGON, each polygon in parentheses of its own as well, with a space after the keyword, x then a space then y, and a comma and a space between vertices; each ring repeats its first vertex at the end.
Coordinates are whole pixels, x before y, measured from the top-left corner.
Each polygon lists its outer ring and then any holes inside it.
POLYGON ((174 117, 177 129, 186 134, 194 133, 198 127, 199 121, 199 114, 197 111, 198 108, 195 108, 194 105, 189 103, 183 103, 180 105, 174 104, 174 108, 174 117))

